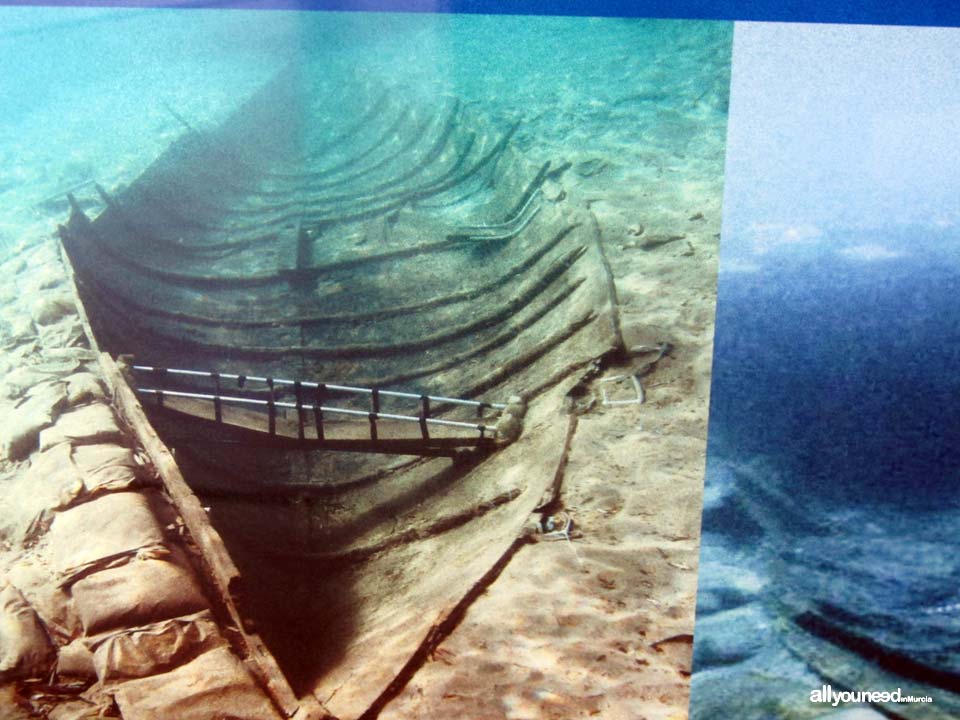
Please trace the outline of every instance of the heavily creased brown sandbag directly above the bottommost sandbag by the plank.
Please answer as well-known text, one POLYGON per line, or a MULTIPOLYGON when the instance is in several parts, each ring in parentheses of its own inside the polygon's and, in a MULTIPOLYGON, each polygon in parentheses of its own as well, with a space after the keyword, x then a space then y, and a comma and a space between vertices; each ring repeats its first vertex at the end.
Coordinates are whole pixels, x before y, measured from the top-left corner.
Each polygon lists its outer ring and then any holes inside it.
POLYGON ((213 616, 203 611, 145 627, 87 639, 100 681, 159 675, 226 641, 213 616))

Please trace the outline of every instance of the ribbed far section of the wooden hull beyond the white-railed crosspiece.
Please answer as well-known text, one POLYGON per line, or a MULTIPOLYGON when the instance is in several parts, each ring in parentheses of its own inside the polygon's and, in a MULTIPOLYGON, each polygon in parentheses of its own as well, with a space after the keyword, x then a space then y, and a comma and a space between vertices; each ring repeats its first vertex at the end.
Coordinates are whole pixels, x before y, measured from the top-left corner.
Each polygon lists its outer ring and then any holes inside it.
MULTIPOLYGON (((615 348, 589 212, 516 122, 291 73, 62 229, 103 348, 476 397, 615 348), (327 114, 324 104, 336 107, 327 114)), ((497 398, 500 399, 500 398, 497 398)))

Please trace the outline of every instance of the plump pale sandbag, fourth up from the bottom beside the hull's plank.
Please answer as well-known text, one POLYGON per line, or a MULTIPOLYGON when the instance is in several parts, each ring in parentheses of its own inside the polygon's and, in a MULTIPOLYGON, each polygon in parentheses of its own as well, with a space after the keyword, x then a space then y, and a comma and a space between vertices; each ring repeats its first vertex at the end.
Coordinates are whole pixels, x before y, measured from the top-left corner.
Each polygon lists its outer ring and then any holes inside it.
POLYGON ((163 554, 163 531, 147 498, 135 492, 111 493, 57 513, 48 537, 51 564, 64 584, 144 550, 163 554))

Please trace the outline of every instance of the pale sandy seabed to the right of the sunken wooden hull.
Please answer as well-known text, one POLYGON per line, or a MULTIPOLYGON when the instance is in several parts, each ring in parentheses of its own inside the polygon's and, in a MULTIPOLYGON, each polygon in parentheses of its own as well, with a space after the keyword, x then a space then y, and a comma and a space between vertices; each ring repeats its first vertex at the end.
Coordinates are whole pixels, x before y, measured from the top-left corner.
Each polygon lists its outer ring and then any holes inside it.
MULTIPOLYGON (((561 493, 575 537, 521 549, 384 718, 687 716, 719 183, 699 192, 658 185, 677 195, 635 212, 623 208, 653 195, 646 183, 601 176, 577 185, 573 202, 605 197, 591 208, 628 342, 674 350, 643 378, 644 404, 595 405, 581 416, 561 493), (645 251, 638 226, 684 237, 645 251)), ((632 394, 610 387, 611 398, 632 394)))

